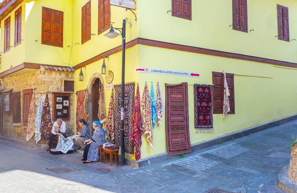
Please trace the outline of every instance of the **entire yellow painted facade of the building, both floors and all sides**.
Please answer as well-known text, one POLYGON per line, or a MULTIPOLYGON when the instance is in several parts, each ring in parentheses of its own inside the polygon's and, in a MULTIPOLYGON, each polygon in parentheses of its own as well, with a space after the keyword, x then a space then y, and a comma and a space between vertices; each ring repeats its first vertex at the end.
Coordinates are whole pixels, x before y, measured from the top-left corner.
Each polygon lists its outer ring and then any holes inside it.
MULTIPOLYGON (((122 44, 122 38, 108 39, 103 32, 98 35, 98 0, 91 0, 91 40, 81 44, 81 8, 88 0, 25 0, 21 6, 22 43, 1 56, 0 72, 23 62, 76 66, 122 44), (64 12, 64 47, 41 44, 42 6, 64 12), (37 40, 37 42, 35 41, 37 40), (69 46, 69 47, 68 47, 69 46)), ((232 0, 192 0, 192 20, 173 17, 171 0, 136 0, 137 20, 131 11, 111 5, 113 27, 121 28, 128 18, 126 42, 137 38, 162 41, 192 47, 230 52, 271 60, 297 63, 297 41, 278 40, 277 4, 289 7, 290 39, 297 39, 297 4, 295 0, 247 0, 248 33, 233 30, 232 0), (252 30, 253 31, 250 31, 252 30)), ((14 37, 14 11, 11 15, 11 45, 14 37)), ((8 15, 8 16, 9 16, 8 15)), ((8 17, 7 16, 7 17, 8 17)), ((7 18, 6 17, 6 18, 7 18)), ((1 21, 1 45, 3 51, 3 21, 1 21)), ((109 53, 106 70, 114 73, 113 84, 121 83, 122 53, 109 53)), ((91 77, 101 72, 103 59, 82 68, 84 81, 79 80, 80 69, 74 74, 74 93, 88 88, 91 77)), ((173 49, 136 44, 126 50, 126 82, 139 83, 142 95, 145 82, 161 85, 165 107, 165 83, 188 82, 189 126, 191 144, 209 140, 273 120, 296 114, 296 69, 202 55, 173 49), (134 73, 135 67, 199 72, 200 77, 183 77, 148 73, 134 73), (196 133, 194 128, 193 84, 212 84, 212 71, 234 73, 235 115, 213 115, 214 133, 196 133), (245 76, 242 76, 245 75, 245 76), (254 77, 262 76, 262 77, 254 77)), ((104 79, 105 75, 99 78, 104 79)), ((106 85, 105 81, 103 82, 106 85)), ((155 91, 156 93, 156 91, 155 91)), ((110 90, 105 91, 105 107, 108 110, 110 90)), ((76 95, 74 94, 74 115, 76 95)), ((107 116, 107 115, 106 115, 107 116)), ((153 130, 154 149, 145 137, 141 158, 167 151, 165 117, 159 130, 153 130)), ((74 124, 75 125, 75 124, 74 124)))

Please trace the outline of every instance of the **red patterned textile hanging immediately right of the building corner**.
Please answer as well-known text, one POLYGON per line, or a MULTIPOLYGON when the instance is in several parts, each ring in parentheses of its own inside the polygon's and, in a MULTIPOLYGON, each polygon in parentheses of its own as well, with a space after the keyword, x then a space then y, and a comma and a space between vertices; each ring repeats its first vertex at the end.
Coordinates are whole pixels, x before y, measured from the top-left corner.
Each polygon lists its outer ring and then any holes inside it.
POLYGON ((139 160, 141 157, 141 144, 142 144, 142 119, 141 119, 141 109, 140 109, 140 93, 139 86, 137 85, 135 103, 134 103, 134 111, 132 115, 132 132, 131 132, 131 142, 134 144, 135 148, 135 159, 139 160))

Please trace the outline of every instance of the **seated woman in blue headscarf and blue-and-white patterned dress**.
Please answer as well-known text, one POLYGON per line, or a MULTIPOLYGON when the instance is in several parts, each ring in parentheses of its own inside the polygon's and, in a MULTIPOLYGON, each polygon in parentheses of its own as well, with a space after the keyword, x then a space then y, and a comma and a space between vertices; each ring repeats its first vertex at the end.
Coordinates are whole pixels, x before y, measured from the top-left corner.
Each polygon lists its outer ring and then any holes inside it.
POLYGON ((99 160, 98 147, 105 143, 105 131, 99 121, 93 122, 94 134, 91 139, 85 141, 83 159, 84 164, 97 162, 99 160))

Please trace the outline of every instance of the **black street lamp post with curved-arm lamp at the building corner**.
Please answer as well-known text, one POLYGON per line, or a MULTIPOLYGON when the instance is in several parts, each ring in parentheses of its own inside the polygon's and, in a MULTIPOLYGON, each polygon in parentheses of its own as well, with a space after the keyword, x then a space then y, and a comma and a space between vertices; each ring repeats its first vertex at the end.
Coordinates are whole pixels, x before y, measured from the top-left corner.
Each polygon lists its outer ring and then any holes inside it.
POLYGON ((123 27, 115 28, 112 27, 107 34, 104 34, 108 38, 116 38, 120 34, 115 32, 118 30, 122 35, 122 96, 121 96, 121 128, 120 128, 120 149, 119 149, 119 159, 118 166, 125 165, 125 148, 124 148, 124 97, 125 97, 125 49, 126 49, 126 19, 123 19, 123 27))

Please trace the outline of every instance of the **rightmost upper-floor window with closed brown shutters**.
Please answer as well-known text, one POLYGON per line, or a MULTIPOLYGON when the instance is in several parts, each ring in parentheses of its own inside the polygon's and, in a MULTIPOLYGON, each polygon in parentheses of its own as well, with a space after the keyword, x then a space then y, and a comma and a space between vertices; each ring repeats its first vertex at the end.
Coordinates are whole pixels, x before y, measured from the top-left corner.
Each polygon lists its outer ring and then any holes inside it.
POLYGON ((278 39, 290 42, 289 34, 289 8, 277 5, 278 39))

